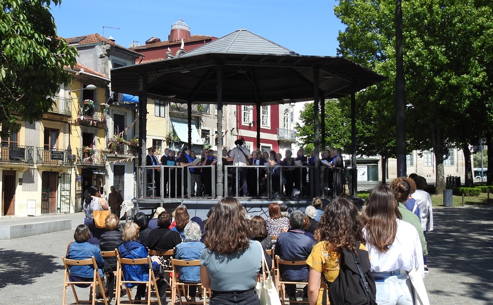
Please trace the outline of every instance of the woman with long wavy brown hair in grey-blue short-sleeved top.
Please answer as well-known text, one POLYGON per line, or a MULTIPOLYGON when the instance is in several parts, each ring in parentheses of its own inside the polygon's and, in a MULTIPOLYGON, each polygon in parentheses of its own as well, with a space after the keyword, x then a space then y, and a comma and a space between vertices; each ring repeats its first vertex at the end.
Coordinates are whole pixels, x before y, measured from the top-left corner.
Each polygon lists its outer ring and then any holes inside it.
POLYGON ((210 304, 255 304, 262 246, 250 241, 250 228, 240 202, 225 197, 207 221, 206 248, 200 257, 200 279, 212 289, 210 304))

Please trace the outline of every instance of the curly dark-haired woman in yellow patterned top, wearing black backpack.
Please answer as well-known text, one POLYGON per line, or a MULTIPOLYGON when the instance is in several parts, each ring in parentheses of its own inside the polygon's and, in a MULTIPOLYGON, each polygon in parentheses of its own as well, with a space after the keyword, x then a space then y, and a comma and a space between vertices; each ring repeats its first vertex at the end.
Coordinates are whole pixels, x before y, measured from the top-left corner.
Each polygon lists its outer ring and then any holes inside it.
POLYGON ((317 226, 318 242, 307 259, 310 305, 322 304, 325 282, 333 282, 339 275, 339 258, 343 250, 362 255, 360 260, 369 259, 362 227, 358 210, 351 201, 338 197, 329 202, 317 226), (320 276, 325 280, 320 281, 320 276))

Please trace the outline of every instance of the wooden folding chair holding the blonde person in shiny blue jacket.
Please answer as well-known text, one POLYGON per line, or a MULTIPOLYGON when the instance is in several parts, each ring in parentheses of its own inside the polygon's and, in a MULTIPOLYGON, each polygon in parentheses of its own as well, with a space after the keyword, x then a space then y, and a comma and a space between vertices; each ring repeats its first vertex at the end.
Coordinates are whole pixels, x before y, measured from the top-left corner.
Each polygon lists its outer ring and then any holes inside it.
MULTIPOLYGON (((145 259, 124 259, 118 255, 117 259, 118 259, 118 265, 119 266, 118 266, 117 275, 116 275, 116 278, 117 278, 116 285, 119 288, 116 289, 116 305, 121 304, 121 286, 122 285, 127 286, 126 285, 127 283, 145 284, 145 286, 147 287, 147 297, 145 298, 145 300, 147 301, 147 305, 151 304, 151 290, 152 290, 152 287, 154 287, 154 291, 155 291, 156 297, 157 297, 157 303, 159 305, 161 305, 161 299, 159 296, 159 291, 157 289, 156 277, 154 276, 154 271, 152 270, 151 258, 149 256, 147 256, 145 259), (149 266, 149 274, 148 274, 149 277, 148 277, 146 282, 145 281, 125 280, 125 277, 123 274, 123 266, 125 266, 125 265, 145 265, 145 264, 148 264, 148 266, 149 266)), ((130 294, 128 294, 128 299, 129 299, 129 303, 132 304, 132 296, 130 294)))

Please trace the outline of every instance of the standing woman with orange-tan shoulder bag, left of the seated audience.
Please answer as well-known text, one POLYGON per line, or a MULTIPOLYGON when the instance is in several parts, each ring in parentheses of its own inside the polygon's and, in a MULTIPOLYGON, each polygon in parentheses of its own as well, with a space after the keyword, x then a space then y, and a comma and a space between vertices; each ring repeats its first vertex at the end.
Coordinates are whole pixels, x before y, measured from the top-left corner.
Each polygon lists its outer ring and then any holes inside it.
POLYGON ((93 211, 109 210, 109 205, 106 202, 105 196, 101 194, 98 187, 91 186, 89 188, 89 195, 84 199, 83 208, 84 213, 86 214, 84 225, 89 228, 89 232, 91 233, 91 238, 89 238, 88 242, 99 247, 101 234, 103 234, 106 229, 96 228, 96 224, 94 223, 93 211))

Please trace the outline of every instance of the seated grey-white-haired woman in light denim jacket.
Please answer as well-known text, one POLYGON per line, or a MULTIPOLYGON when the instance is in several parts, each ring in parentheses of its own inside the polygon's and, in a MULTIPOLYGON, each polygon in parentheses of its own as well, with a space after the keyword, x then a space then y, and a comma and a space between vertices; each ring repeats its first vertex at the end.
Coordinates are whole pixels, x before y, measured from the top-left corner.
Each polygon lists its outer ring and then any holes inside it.
MULTIPOLYGON (((204 243, 200 241, 202 237, 200 226, 197 223, 190 221, 185 226, 184 233, 185 241, 176 245, 175 258, 184 261, 200 260, 200 254, 206 247, 204 243)), ((178 279, 185 284, 200 283, 200 266, 180 267, 178 270, 178 279)), ((188 286, 189 302, 195 302, 196 294, 197 286, 188 286)))

